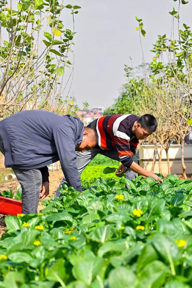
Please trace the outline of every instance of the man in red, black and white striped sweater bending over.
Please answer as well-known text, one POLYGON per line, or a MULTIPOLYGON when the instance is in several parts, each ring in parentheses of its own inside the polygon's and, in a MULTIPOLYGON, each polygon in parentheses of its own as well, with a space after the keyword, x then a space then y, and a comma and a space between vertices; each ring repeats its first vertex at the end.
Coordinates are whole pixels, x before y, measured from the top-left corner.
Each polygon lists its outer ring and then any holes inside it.
MULTIPOLYGON (((89 125, 98 135, 98 144, 89 151, 76 152, 76 164, 79 173, 85 169, 88 163, 97 155, 102 154, 113 160, 121 161, 122 165, 116 174, 125 172, 125 177, 135 179, 138 174, 151 176, 155 180, 160 178, 138 165, 134 155, 139 140, 147 138, 157 128, 157 120, 151 114, 138 117, 134 114, 102 116, 92 121, 89 125), (82 153, 84 152, 84 153, 82 153)), ((160 179, 161 180, 161 179, 160 179)), ((66 183, 65 178, 61 181, 66 183)), ((59 196, 57 190, 55 197, 59 196)))

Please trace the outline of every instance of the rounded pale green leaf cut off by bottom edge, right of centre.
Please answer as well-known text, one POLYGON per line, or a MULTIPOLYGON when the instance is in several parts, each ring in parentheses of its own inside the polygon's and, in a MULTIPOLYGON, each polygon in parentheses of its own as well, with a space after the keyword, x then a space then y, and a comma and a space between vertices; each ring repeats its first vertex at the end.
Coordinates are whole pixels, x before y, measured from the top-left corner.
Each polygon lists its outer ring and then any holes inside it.
POLYGON ((109 288, 134 288, 136 284, 136 276, 131 269, 118 267, 110 271, 108 278, 109 288))

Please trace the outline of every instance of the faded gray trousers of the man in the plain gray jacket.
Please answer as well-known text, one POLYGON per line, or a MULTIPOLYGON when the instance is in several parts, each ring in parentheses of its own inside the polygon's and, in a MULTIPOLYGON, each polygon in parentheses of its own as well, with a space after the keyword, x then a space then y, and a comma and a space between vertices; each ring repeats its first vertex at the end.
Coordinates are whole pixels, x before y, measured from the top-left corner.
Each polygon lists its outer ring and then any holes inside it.
MULTIPOLYGON (((5 154, 3 141, 0 136, 0 151, 5 154)), ((22 213, 37 213, 39 190, 42 186, 42 175, 39 169, 22 170, 12 168, 22 187, 22 213)))

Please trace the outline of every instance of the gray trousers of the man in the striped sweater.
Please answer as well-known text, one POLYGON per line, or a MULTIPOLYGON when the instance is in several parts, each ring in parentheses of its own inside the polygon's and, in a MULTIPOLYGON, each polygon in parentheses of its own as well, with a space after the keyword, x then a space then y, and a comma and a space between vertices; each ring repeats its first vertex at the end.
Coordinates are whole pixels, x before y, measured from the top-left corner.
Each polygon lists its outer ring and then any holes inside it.
MULTIPOLYGON (((119 158, 118 152, 116 149, 110 149, 110 150, 103 150, 101 148, 93 148, 89 151, 85 152, 76 152, 77 158, 76 158, 76 164, 77 164, 77 169, 79 173, 81 174, 85 167, 89 164, 89 162, 97 155, 97 154, 102 154, 104 156, 107 156, 108 158, 111 158, 113 160, 121 161, 119 158)), ((132 157, 133 161, 138 164, 137 157, 134 155, 132 157)), ((126 169, 125 171, 125 178, 131 180, 135 179, 138 176, 137 173, 133 172, 129 168, 126 169)), ((60 196, 60 192, 58 189, 62 189, 62 184, 67 183, 65 180, 65 177, 61 180, 61 183, 59 187, 57 188, 57 191, 55 193, 55 198, 60 196)), ((127 187, 128 188, 128 187, 127 187)), ((54 200, 55 200, 54 198, 54 200)))

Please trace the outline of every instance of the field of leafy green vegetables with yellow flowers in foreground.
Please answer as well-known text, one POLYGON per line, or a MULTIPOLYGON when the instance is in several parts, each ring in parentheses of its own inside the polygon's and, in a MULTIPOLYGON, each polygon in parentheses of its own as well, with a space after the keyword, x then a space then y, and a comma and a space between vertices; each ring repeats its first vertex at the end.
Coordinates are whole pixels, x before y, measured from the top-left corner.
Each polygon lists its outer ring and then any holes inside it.
POLYGON ((5 218, 0 287, 191 287, 192 181, 98 178, 84 189, 63 184, 41 213, 5 218))

